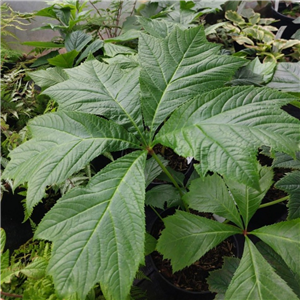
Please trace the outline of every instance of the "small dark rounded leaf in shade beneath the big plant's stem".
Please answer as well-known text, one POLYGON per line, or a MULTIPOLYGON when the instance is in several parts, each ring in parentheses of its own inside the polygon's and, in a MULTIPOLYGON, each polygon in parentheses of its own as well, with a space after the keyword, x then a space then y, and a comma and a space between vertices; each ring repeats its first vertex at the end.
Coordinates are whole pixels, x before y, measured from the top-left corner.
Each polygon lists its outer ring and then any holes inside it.
POLYGON ((147 205, 165 209, 166 207, 179 206, 181 197, 178 190, 170 184, 159 184, 146 193, 147 205))

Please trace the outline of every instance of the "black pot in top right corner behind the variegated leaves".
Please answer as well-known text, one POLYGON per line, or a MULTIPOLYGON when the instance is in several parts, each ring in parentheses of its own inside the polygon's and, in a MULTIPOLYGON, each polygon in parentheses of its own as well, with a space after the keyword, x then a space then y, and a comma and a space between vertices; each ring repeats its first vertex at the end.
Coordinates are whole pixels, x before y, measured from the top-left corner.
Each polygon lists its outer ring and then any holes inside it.
MULTIPOLYGON (((272 23, 272 26, 275 26, 278 29, 282 26, 286 26, 286 28, 284 29, 284 31, 281 35, 281 38, 286 39, 286 40, 290 39, 292 37, 292 35, 298 29, 300 29, 300 24, 293 23, 293 21, 295 20, 294 18, 288 17, 281 13, 284 9, 286 9, 286 5, 284 3, 279 4, 278 11, 276 11, 273 8, 273 6, 271 8, 272 8, 273 18, 277 20, 277 22, 272 23)), ((300 5, 299 5, 299 10, 300 10, 300 5)))

